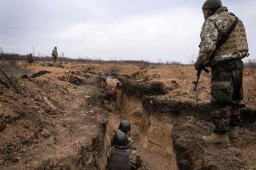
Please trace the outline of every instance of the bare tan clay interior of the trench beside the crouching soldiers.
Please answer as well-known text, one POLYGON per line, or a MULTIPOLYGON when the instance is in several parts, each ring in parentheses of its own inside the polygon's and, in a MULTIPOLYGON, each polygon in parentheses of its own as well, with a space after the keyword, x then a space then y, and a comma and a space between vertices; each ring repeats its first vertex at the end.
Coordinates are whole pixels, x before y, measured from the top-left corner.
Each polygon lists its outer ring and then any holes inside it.
POLYGON ((121 120, 127 119, 136 150, 150 169, 178 169, 171 136, 173 117, 148 113, 139 97, 123 92, 118 93, 116 106, 115 113, 108 113, 109 136, 113 136, 121 120))

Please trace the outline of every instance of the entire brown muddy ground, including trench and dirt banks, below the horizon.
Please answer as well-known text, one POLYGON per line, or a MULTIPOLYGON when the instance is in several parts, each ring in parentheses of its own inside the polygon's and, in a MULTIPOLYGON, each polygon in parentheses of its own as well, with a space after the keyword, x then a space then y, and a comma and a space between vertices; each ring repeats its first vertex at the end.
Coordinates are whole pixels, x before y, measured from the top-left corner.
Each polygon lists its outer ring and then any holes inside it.
POLYGON ((104 169, 120 120, 150 169, 256 169, 256 70, 244 71, 244 124, 230 146, 208 145, 210 74, 193 92, 193 67, 0 62, 0 169, 104 169), (118 72, 116 111, 100 77, 118 72), (22 78, 20 78, 22 77, 22 78))

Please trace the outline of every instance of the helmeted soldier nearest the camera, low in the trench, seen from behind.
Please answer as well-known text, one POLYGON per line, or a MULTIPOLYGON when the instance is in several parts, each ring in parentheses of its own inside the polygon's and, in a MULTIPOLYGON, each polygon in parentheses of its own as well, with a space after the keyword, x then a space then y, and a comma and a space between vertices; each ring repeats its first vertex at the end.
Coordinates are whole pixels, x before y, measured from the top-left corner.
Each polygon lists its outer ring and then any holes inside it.
POLYGON ((107 170, 148 169, 136 150, 129 146, 127 134, 121 131, 117 132, 113 144, 108 150, 107 170))

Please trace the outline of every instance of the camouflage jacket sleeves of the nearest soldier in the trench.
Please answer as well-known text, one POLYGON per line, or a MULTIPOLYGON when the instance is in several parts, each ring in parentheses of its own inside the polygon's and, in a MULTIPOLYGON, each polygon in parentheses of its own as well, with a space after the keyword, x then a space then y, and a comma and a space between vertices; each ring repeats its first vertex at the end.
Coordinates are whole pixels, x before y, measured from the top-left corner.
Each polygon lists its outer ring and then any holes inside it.
MULTIPOLYGON (((111 150, 114 148, 111 147, 108 150, 108 158, 110 158, 111 156, 111 150)), ((129 155, 129 165, 134 167, 134 169, 138 169, 138 170, 149 170, 149 168, 143 164, 140 155, 138 155, 138 152, 136 152, 136 150, 132 150, 132 152, 129 155)))

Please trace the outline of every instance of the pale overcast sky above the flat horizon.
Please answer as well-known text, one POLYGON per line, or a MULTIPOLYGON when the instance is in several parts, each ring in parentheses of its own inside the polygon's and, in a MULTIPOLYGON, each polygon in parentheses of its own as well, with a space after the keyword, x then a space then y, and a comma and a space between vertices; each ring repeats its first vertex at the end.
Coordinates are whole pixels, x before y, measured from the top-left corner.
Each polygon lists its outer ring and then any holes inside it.
MULTIPOLYGON (((178 61, 198 55, 203 0, 1 0, 4 52, 68 57, 178 61)), ((256 1, 223 0, 246 26, 256 55, 256 1)))

